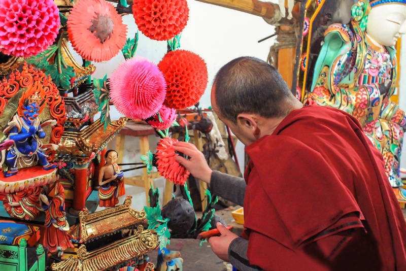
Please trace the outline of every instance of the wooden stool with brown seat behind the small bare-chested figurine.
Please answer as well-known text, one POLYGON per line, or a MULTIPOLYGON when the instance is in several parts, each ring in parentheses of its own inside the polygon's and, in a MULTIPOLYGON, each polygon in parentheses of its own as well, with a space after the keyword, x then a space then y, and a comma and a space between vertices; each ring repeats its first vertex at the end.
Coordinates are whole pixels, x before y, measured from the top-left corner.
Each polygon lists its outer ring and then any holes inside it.
MULTIPOLYGON (((120 164, 123 162, 123 155, 124 155, 124 138, 125 136, 130 137, 139 137, 140 138, 140 147, 141 147, 141 155, 146 155, 147 152, 150 150, 149 148, 149 140, 148 136, 155 134, 155 129, 152 128, 148 124, 141 124, 135 122, 127 122, 125 127, 121 129, 121 131, 116 136, 116 151, 118 153, 117 163, 120 164)), ((151 174, 147 173, 147 168, 143 168, 143 175, 142 176, 135 176, 125 178, 125 184, 139 186, 145 188, 145 196, 147 198, 147 206, 149 206, 149 195, 148 191, 153 186, 153 180, 156 178, 160 178, 158 172, 152 172, 151 174)), ((166 202, 171 200, 172 197, 172 187, 173 184, 166 180, 165 183, 165 190, 163 193, 163 202, 162 206, 166 204, 166 202)))

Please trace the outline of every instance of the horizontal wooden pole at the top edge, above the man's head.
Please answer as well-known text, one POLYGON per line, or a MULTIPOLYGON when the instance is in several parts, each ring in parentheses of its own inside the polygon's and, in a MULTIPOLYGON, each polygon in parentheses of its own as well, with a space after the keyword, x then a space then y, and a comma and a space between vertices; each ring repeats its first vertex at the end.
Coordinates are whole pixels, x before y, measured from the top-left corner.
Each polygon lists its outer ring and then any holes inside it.
POLYGON ((199 2, 220 6, 232 10, 238 10, 263 18, 272 18, 275 9, 279 6, 273 3, 261 2, 258 0, 197 0, 199 2))

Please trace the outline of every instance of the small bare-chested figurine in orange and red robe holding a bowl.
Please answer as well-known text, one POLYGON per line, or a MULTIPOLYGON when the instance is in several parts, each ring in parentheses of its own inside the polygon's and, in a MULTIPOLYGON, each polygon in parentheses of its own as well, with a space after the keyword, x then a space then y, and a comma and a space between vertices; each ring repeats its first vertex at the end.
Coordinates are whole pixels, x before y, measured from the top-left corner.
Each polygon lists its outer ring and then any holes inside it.
POLYGON ((118 204, 118 197, 125 194, 124 173, 120 171, 117 161, 118 153, 108 150, 105 154, 106 164, 100 168, 98 197, 100 207, 114 207, 118 204))

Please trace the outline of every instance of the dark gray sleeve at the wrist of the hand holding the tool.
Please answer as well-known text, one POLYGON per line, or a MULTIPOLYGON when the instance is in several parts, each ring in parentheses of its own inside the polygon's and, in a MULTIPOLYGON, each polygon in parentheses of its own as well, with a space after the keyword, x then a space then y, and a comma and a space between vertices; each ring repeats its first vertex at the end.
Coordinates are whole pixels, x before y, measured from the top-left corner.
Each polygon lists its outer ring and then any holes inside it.
POLYGON ((240 271, 263 270, 261 267, 251 265, 247 257, 248 240, 244 238, 234 239, 228 247, 228 258, 232 266, 240 271))

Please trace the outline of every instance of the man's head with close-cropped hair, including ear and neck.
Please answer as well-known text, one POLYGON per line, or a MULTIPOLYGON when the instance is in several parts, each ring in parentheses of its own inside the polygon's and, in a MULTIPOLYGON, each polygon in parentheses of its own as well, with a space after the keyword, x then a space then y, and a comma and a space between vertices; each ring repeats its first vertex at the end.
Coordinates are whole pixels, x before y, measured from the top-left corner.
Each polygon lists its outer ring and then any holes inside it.
POLYGON ((271 134, 301 103, 279 72, 254 57, 239 57, 217 73, 212 107, 219 118, 246 146, 271 134))

